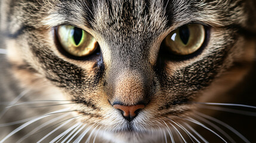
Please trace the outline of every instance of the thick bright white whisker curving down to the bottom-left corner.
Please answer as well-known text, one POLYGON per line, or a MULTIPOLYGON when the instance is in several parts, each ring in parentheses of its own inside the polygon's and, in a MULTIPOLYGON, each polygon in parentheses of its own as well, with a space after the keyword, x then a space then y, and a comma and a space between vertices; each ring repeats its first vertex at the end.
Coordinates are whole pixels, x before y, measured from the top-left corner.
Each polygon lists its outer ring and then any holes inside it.
POLYGON ((9 133, 7 136, 5 136, 5 138, 2 139, 2 141, 0 141, 0 143, 4 142, 6 139, 10 138, 10 136, 14 135, 14 133, 20 131, 21 129, 25 128, 26 126, 28 126, 28 125, 30 125, 30 124, 32 124, 32 123, 34 123, 34 122, 36 122, 36 121, 38 121, 38 120, 40 120, 40 119, 43 119, 43 118, 45 118, 45 117, 48 117, 48 116, 50 116, 51 114, 54 114, 54 113, 60 113, 60 112, 62 112, 62 111, 67 111, 67 110, 69 110, 69 109, 70 109, 70 108, 64 108, 64 109, 57 110, 57 111, 54 111, 54 112, 49 113, 49 114, 45 114, 45 115, 40 116, 40 117, 38 117, 38 118, 36 118, 36 119, 30 120, 29 122, 24 123, 23 125, 19 126, 19 127, 16 128, 15 130, 13 130, 11 133, 9 133))

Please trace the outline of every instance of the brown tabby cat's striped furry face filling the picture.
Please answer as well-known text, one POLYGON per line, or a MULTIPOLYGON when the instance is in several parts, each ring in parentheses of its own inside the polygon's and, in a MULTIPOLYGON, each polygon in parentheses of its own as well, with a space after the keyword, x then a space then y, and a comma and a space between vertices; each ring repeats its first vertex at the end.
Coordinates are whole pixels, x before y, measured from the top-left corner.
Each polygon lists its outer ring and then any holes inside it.
MULTIPOLYGON (((161 136, 159 130, 168 129, 166 122, 192 114, 193 103, 201 97, 217 96, 218 81, 248 57, 250 47, 240 32, 252 28, 246 1, 51 0, 2 5, 8 5, 10 15, 2 18, 8 23, 2 27, 10 33, 8 60, 21 86, 47 92, 45 99, 57 91, 55 99, 75 103, 68 107, 82 116, 81 122, 124 142, 145 141, 150 132, 161 136), (67 51, 59 33, 63 26, 92 36, 95 49, 85 56, 67 51), (181 41, 195 46, 201 40, 198 48, 170 50, 166 38, 172 39, 175 30, 181 37, 184 27, 190 40, 181 41)), ((236 76, 230 80, 237 81, 243 73, 236 76)))

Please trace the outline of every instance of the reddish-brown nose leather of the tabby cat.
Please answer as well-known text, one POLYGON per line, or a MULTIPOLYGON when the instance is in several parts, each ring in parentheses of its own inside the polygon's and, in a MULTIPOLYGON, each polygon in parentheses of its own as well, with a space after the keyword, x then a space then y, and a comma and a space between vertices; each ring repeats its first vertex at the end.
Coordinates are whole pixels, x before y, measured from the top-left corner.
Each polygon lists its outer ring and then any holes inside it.
POLYGON ((125 119, 131 122, 131 120, 133 120, 137 116, 138 110, 143 109, 145 105, 125 106, 125 105, 115 104, 113 105, 113 107, 121 110, 125 119))

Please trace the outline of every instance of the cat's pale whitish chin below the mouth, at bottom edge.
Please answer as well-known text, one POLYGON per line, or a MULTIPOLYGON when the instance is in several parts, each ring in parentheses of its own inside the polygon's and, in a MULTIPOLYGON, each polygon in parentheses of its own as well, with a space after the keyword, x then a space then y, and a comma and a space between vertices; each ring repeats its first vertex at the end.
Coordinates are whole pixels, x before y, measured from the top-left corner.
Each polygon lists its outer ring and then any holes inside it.
POLYGON ((137 143, 137 142, 158 142, 163 138, 164 130, 153 132, 110 132, 100 130, 98 136, 107 142, 115 143, 137 143))

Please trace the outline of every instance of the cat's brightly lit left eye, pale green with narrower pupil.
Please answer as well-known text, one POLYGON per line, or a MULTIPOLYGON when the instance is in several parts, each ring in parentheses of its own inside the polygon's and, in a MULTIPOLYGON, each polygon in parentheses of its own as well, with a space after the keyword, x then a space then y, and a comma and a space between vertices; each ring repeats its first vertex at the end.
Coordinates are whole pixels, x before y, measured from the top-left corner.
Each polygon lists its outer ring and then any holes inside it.
POLYGON ((92 35, 74 26, 58 26, 57 37, 64 50, 76 57, 90 55, 98 46, 92 35))

